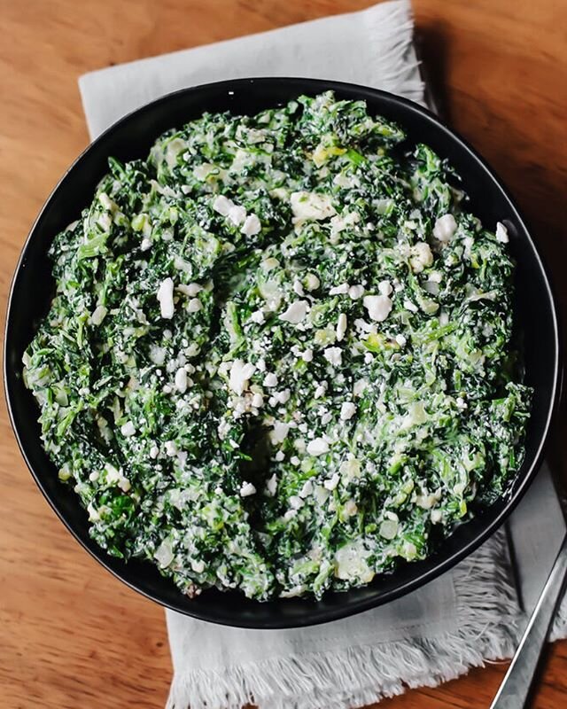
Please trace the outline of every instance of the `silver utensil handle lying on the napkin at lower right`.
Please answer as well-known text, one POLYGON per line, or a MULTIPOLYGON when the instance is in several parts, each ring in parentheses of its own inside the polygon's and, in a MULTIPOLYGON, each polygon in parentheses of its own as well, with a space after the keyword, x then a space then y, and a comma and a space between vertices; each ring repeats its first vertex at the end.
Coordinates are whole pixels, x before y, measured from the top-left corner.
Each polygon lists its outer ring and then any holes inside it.
POLYGON ((490 709, 527 709, 530 691, 567 582, 567 534, 490 709))

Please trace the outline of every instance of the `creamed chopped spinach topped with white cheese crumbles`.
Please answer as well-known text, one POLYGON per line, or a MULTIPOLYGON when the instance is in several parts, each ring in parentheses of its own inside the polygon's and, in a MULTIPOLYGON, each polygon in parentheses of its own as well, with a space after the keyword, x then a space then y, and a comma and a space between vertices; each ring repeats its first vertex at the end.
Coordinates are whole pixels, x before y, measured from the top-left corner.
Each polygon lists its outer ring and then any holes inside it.
POLYGON ((532 393, 508 233, 404 138, 328 92, 109 161, 24 355, 109 554, 190 596, 321 597, 505 494, 532 393))

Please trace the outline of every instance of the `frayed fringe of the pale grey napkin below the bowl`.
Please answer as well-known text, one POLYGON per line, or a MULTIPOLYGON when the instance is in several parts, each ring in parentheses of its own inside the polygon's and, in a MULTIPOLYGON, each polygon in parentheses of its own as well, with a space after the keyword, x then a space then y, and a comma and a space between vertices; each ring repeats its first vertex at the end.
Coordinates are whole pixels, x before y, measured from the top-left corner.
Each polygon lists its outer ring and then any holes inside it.
POLYGON ((453 680, 513 653, 518 607, 509 569, 503 532, 455 567, 455 633, 272 658, 221 673, 177 671, 167 709, 241 709, 249 703, 260 709, 352 709, 453 680))

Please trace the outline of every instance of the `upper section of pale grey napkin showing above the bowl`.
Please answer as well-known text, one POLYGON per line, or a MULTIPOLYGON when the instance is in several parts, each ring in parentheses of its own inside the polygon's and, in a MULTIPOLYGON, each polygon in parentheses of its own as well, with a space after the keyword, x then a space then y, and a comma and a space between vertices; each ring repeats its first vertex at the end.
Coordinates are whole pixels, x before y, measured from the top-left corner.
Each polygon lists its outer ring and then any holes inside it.
POLYGON ((250 76, 308 76, 423 101, 407 0, 113 66, 79 80, 91 137, 170 91, 250 76))

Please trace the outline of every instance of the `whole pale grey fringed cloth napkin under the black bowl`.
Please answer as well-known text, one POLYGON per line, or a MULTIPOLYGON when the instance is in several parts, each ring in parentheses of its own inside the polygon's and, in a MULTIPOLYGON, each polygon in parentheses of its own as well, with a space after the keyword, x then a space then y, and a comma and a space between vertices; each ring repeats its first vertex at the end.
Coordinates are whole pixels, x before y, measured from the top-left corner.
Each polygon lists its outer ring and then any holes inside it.
MULTIPOLYGON (((401 0, 86 74, 80 87, 90 134, 167 91, 244 76, 344 80, 423 102, 412 30, 401 0)), ((452 571, 376 610, 277 631, 167 611, 175 670, 167 706, 350 709, 510 657, 564 533, 544 466, 506 530, 452 571)), ((553 637, 565 636, 563 603, 553 637)))

